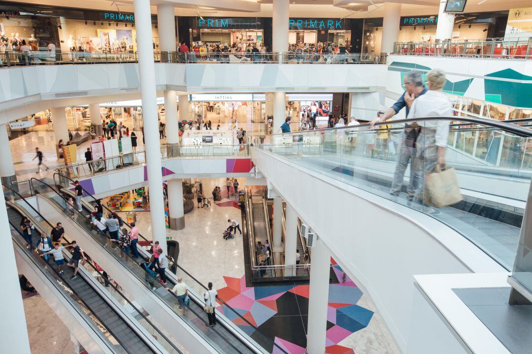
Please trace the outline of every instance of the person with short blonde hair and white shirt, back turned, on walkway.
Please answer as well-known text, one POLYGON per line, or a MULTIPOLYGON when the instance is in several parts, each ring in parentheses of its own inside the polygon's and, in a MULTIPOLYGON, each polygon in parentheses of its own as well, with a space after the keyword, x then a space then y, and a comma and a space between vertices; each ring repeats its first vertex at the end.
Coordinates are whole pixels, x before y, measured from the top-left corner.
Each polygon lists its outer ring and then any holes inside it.
MULTIPOLYGON (((412 103, 408 119, 422 117, 450 117, 452 104, 445 93, 442 92, 445 83, 445 72, 433 69, 427 73, 429 90, 419 96, 412 103)), ((417 155, 415 165, 415 198, 422 199, 422 190, 425 185, 425 175, 434 172, 436 166, 445 167, 445 149, 449 136, 449 120, 425 120, 418 122, 421 126, 418 139, 415 142, 417 155)))

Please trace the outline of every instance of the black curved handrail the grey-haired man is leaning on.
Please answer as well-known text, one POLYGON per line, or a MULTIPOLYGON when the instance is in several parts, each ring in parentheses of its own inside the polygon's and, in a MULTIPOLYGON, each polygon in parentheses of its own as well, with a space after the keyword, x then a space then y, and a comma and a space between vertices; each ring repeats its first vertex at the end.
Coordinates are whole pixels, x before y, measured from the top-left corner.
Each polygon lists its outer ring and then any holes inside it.
MULTIPOLYGON (((451 116, 451 117, 420 117, 420 118, 414 118, 414 119, 388 119, 385 122, 379 122, 375 123, 375 126, 378 125, 387 125, 387 124, 397 124, 397 123, 412 123, 412 122, 420 122, 420 121, 426 121, 426 120, 456 120, 459 122, 466 122, 470 124, 479 124, 479 125, 487 125, 491 127, 495 127, 498 129, 501 129, 502 131, 512 133, 515 135, 519 135, 522 137, 532 137, 532 129, 526 128, 521 125, 513 124, 513 123, 506 123, 508 121, 506 120, 493 120, 493 119, 485 119, 485 118, 476 118, 476 117, 463 117, 463 116, 451 116), (505 123, 502 123, 505 122, 505 123)), ((364 123, 360 125, 355 126, 345 126, 345 127, 336 127, 336 128, 321 128, 318 129, 319 132, 329 132, 329 131, 338 131, 338 130, 355 130, 360 128, 366 128, 371 127, 369 123, 364 123)), ((290 132, 290 133, 280 133, 280 134, 270 134, 270 136, 274 135, 290 135, 290 134, 305 134, 312 131, 304 131, 304 132, 290 132)), ((257 135, 255 135, 257 136, 257 135)))

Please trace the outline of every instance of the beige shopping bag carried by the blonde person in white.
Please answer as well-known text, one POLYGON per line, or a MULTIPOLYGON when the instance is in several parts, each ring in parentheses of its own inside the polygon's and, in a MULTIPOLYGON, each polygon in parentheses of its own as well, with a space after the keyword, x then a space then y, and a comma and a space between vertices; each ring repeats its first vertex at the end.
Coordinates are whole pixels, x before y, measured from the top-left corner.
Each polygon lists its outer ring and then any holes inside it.
POLYGON ((425 204, 442 208, 462 201, 460 186, 454 168, 440 169, 436 165, 434 172, 425 176, 425 204))

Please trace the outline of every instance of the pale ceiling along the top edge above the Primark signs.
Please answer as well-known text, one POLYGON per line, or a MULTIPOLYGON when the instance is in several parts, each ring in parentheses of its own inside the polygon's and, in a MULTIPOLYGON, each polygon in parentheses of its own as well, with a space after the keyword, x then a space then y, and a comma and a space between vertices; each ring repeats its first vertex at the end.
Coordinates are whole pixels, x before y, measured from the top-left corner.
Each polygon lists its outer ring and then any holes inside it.
MULTIPOLYGON (((152 0, 152 13, 156 13, 156 6, 154 1, 174 2, 176 5, 175 13, 180 16, 196 16, 196 7, 200 14, 207 16, 257 16, 270 17, 272 15, 272 0, 152 0), (252 3, 250 5, 256 6, 259 11, 250 11, 246 8, 246 12, 242 11, 228 11, 217 10, 220 8, 228 8, 235 4, 242 5, 245 3, 252 3), (197 3, 197 5, 195 5, 197 3), (258 3, 258 4, 257 4, 258 3), (228 5, 231 4, 231 5, 228 5), (257 5, 260 5, 257 6, 257 5)), ((364 2, 369 0, 289 0, 290 1, 290 16, 302 18, 342 18, 350 15, 349 18, 376 18, 383 17, 386 5, 384 0, 372 0, 375 5, 370 5, 368 11, 360 11, 353 14, 353 11, 347 10, 343 7, 333 5, 333 1, 339 6, 347 6, 356 8, 364 2), (294 4, 295 3, 295 4, 294 4), (348 4, 358 4, 350 6, 348 4), (377 8, 376 8, 377 7, 377 8)), ((486 0, 481 5, 478 3, 481 0, 469 0, 465 6, 465 12, 486 12, 486 11, 500 11, 509 10, 516 7, 530 7, 532 2, 530 0, 486 0)), ((117 6, 120 11, 133 12, 132 0, 118 0, 116 4, 112 4, 109 0, 14 0, 14 2, 45 4, 64 7, 78 7, 89 8, 94 10, 117 11, 117 6)), ((401 2, 402 16, 413 15, 428 15, 438 13, 439 0, 388 0, 388 2, 401 2), (417 4, 413 4, 413 3, 417 4)), ((245 6, 247 7, 247 6, 245 6)), ((365 5, 364 5, 365 7, 365 5)), ((242 9, 243 7, 238 7, 242 9)))

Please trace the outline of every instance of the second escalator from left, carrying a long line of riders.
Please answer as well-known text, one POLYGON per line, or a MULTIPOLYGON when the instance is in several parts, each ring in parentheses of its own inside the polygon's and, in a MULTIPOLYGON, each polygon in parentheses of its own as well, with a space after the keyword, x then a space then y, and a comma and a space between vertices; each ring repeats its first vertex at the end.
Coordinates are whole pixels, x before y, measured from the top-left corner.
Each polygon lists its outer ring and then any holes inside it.
MULTIPOLYGON (((149 254, 142 246, 138 246, 140 257, 134 258, 126 254, 106 234, 95 229, 86 215, 93 211, 90 204, 84 203, 79 213, 74 208, 73 215, 65 213, 66 201, 63 195, 54 187, 39 180, 32 179, 37 193, 37 203, 43 214, 53 215, 54 220, 63 222, 67 227, 79 235, 82 246, 98 258, 98 263, 114 272, 113 278, 120 279, 121 286, 131 294, 145 308, 157 322, 165 324, 165 328, 174 338, 184 343, 189 352, 222 352, 222 353, 264 353, 271 352, 277 344, 254 328, 253 334, 248 336, 234 323, 227 320, 227 316, 240 317, 252 326, 241 314, 229 305, 222 303, 223 313, 217 311, 220 325, 209 326, 206 313, 203 310, 203 292, 206 289, 192 275, 182 269, 177 263, 169 261, 169 268, 177 267, 176 274, 167 270, 167 284, 161 284, 159 279, 152 277, 142 266, 149 262, 149 254), (94 252, 93 252, 94 251, 94 252), (177 279, 182 278, 189 289, 190 303, 184 310, 178 309, 178 298, 173 292, 165 288, 172 288, 177 279), (188 348, 187 348, 188 345, 188 348)), ((124 222, 124 226, 127 223, 124 222)), ((67 230, 68 231, 68 230, 67 230)), ((77 236, 78 237, 78 236, 77 236)), ((144 237, 139 238, 148 243, 144 237)), ((140 240, 139 240, 140 244, 140 240)), ((277 347, 280 352, 285 352, 277 347)))

